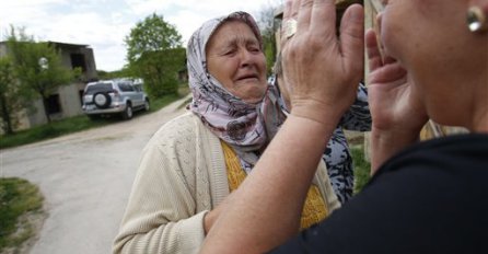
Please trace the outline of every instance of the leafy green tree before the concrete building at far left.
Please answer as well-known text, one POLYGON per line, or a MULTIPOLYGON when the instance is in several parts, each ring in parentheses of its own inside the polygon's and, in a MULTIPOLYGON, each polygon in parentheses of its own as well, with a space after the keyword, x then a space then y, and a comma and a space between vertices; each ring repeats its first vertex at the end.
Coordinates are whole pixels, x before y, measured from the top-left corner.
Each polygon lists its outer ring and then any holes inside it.
POLYGON ((7 45, 20 89, 28 89, 42 99, 46 119, 50 123, 46 103, 49 95, 58 86, 69 84, 80 70, 71 71, 63 67, 61 57, 53 45, 36 43, 23 30, 16 34, 15 28, 11 27, 7 45))

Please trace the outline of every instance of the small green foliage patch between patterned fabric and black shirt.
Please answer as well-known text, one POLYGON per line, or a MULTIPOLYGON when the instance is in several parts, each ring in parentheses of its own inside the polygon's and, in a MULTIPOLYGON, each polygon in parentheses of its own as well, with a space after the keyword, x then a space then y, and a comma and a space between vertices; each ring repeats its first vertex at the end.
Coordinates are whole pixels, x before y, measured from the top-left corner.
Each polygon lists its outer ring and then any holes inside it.
POLYGON ((351 147, 352 164, 355 166, 355 194, 361 189, 370 181, 371 164, 364 158, 363 145, 351 147))

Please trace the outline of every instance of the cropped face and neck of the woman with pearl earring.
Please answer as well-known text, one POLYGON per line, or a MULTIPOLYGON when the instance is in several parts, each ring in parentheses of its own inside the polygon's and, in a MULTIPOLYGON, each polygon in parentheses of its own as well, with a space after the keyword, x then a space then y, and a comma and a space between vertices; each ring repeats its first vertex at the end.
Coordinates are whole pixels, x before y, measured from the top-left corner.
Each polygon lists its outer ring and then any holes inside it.
POLYGON ((469 86, 466 77, 476 77, 487 68, 481 62, 488 57, 486 41, 466 26, 469 0, 386 2, 380 18, 385 54, 407 69, 429 115, 441 124, 455 124, 465 111, 460 103, 467 102, 460 97, 469 86), (457 108, 446 111, 445 102, 457 102, 453 103, 457 108))

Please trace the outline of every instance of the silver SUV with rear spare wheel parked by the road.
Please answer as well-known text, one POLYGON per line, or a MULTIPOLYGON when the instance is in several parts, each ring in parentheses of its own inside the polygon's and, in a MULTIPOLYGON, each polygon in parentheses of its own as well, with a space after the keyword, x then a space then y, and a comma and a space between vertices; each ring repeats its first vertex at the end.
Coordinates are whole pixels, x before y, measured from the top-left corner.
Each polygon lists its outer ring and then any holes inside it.
POLYGON ((86 84, 82 109, 92 119, 108 114, 130 119, 135 111, 149 111, 149 97, 142 91, 142 83, 128 79, 101 80, 86 84))

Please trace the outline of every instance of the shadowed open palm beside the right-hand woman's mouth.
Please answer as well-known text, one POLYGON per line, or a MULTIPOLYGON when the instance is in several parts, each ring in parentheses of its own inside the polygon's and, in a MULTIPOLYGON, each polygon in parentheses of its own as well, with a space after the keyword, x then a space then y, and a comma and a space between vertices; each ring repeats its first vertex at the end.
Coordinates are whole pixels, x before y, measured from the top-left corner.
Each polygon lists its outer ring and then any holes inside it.
POLYGON ((415 142, 428 120, 407 71, 395 59, 382 57, 374 31, 365 35, 370 74, 368 101, 372 117, 372 173, 390 157, 415 142))

